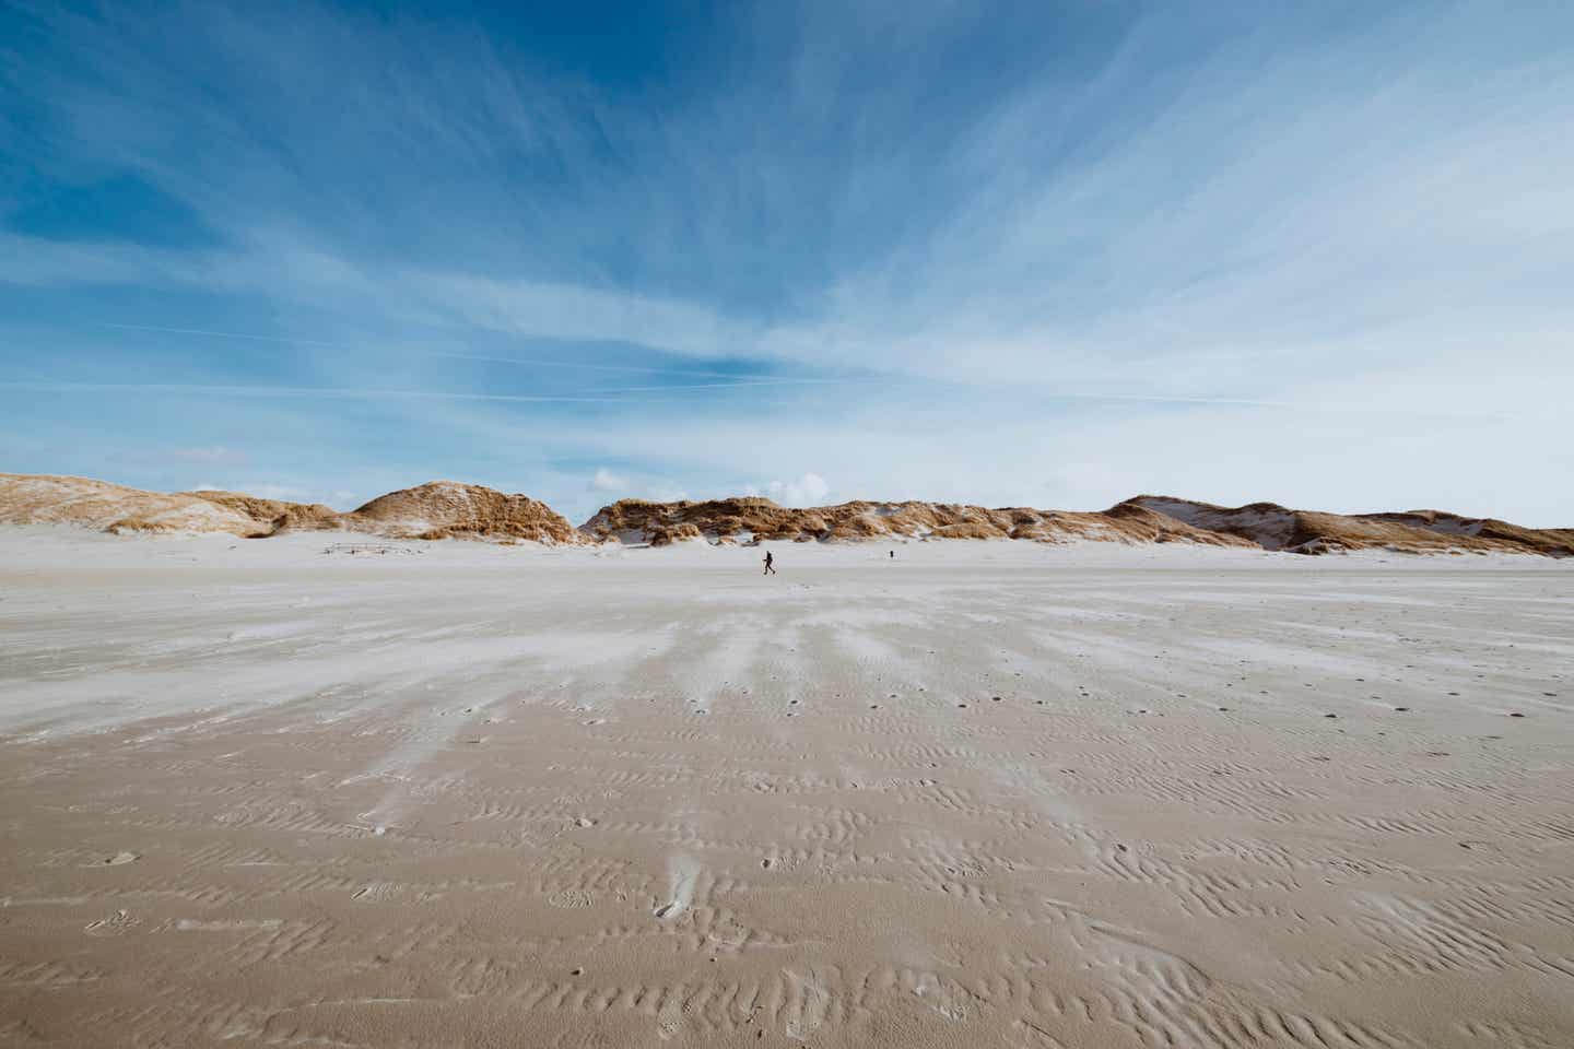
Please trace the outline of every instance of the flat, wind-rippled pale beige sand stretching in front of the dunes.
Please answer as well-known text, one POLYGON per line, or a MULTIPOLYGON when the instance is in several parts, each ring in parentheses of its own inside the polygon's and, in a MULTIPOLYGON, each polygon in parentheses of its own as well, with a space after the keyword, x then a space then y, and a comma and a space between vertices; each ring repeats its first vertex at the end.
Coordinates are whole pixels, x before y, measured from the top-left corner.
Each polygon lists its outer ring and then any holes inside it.
POLYGON ((1574 1044, 1574 566, 338 541, 0 532, 0 1043, 1574 1044))

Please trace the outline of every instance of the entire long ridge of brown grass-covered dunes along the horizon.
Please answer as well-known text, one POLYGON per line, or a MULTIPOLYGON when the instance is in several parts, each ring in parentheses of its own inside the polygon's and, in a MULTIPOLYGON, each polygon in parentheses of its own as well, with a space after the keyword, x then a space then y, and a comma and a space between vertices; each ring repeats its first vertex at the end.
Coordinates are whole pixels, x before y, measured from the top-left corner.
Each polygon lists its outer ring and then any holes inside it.
POLYGON ((460 481, 428 481, 340 513, 321 503, 244 492, 167 494, 80 477, 0 473, 0 522, 74 524, 113 533, 219 532, 244 538, 345 530, 400 539, 568 546, 1026 539, 1185 543, 1313 555, 1384 549, 1574 557, 1574 528, 1527 528, 1440 510, 1333 514, 1267 502, 1218 506, 1173 495, 1135 495, 1102 511, 919 500, 795 508, 760 497, 666 503, 623 499, 576 528, 545 502, 460 481))

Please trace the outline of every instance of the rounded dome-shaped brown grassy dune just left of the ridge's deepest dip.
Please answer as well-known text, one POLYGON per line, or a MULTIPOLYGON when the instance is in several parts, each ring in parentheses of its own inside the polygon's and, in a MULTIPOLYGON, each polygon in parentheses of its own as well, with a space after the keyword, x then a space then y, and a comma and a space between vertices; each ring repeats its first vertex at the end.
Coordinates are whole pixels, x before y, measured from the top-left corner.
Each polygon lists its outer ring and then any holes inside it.
POLYGON ((527 495, 507 495, 480 484, 428 481, 373 499, 346 524, 405 539, 527 539, 582 543, 557 511, 527 495))

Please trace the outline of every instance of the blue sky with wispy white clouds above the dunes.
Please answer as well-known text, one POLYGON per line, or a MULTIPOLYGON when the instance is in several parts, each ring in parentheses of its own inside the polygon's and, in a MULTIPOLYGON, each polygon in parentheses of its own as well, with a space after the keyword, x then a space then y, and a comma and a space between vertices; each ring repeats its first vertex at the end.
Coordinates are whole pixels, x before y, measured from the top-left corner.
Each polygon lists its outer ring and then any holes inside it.
POLYGON ((0 470, 1574 527, 1574 5, 0 0, 0 470))

